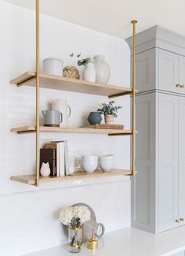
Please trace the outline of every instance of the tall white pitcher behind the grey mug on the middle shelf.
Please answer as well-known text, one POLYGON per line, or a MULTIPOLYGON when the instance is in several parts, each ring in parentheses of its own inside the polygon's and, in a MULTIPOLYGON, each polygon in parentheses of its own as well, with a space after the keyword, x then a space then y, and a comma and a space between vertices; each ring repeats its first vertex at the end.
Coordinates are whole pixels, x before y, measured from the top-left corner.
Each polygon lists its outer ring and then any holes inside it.
POLYGON ((57 98, 52 101, 52 109, 58 110, 62 113, 62 122, 60 124, 61 127, 68 126, 68 117, 71 115, 71 108, 67 104, 67 100, 65 98, 57 98))

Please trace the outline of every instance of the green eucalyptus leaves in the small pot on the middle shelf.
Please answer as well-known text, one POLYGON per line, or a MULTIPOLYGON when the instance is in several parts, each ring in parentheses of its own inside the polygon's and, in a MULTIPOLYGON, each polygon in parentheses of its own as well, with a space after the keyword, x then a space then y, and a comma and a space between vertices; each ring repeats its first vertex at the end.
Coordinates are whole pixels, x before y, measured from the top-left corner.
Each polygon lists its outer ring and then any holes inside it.
POLYGON ((114 101, 111 101, 108 104, 99 104, 100 107, 97 109, 97 111, 104 115, 113 115, 113 117, 117 117, 117 112, 122 108, 122 106, 114 106, 114 104, 114 101))

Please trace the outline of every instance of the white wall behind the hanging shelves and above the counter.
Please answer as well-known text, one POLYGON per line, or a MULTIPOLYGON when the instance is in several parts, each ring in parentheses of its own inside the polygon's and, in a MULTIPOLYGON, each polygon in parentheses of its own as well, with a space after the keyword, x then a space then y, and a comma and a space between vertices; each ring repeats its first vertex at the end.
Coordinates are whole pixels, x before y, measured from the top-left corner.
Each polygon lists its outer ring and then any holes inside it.
MULTIPOLYGON (((65 243, 57 221, 60 207, 86 202, 94 209, 106 232, 130 225, 130 180, 128 177, 78 180, 31 187, 9 180, 10 176, 34 173, 35 135, 17 135, 12 127, 34 124, 35 88, 9 84, 22 72, 35 69, 35 13, 0 1, 0 255, 16 256, 65 243)), ((105 54, 111 68, 109 83, 129 87, 129 56, 124 40, 52 17, 41 16, 41 60, 58 57, 65 65, 75 60, 72 51, 83 57, 105 54)), ((76 64, 76 63, 73 63, 76 64)), ((80 95, 41 89, 41 109, 54 98, 68 98, 72 107, 69 126, 87 120, 101 96, 80 95)), ((124 106, 117 122, 129 128, 129 97, 117 99, 124 106)), ((41 120, 42 122, 42 120, 41 120)), ((126 137, 107 135, 42 134, 41 143, 67 139, 69 150, 78 154, 114 154, 115 167, 128 169, 130 143, 126 137)))

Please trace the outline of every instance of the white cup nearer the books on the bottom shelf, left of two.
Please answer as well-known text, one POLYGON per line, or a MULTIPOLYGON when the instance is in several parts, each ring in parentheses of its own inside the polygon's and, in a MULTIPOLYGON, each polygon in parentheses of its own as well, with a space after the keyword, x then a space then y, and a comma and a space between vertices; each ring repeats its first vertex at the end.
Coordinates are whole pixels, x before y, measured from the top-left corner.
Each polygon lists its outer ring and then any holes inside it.
POLYGON ((84 155, 82 157, 82 168, 87 173, 93 173, 98 166, 98 157, 94 155, 84 155))

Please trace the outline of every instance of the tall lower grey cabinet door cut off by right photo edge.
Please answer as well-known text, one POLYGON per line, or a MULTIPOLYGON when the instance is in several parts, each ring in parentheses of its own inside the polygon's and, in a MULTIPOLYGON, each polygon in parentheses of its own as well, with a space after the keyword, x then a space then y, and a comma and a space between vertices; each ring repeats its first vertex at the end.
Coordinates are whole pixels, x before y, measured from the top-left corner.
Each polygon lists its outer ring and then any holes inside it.
MULTIPOLYGON (((185 220, 185 98, 179 97, 179 218, 185 220)), ((179 225, 185 224, 185 221, 179 225)))

